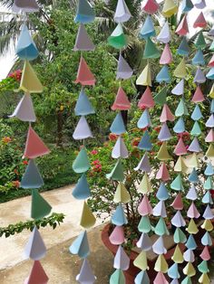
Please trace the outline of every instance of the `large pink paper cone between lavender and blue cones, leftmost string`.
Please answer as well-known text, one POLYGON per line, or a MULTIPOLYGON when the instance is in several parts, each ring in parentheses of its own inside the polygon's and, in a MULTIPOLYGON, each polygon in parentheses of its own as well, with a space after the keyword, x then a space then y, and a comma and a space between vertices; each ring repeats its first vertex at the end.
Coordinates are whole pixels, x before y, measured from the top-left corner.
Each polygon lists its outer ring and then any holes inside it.
POLYGON ((50 150, 44 145, 42 139, 35 133, 33 128, 28 129, 24 157, 34 159, 37 156, 49 154, 50 150))

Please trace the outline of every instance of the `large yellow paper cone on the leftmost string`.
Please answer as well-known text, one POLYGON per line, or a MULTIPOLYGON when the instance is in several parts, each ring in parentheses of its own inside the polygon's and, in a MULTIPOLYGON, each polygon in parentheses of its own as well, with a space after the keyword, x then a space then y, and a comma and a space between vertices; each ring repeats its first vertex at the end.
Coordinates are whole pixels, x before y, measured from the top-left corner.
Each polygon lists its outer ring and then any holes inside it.
POLYGON ((24 70, 19 89, 29 93, 40 93, 44 90, 44 87, 35 74, 34 69, 27 61, 24 62, 24 70))

